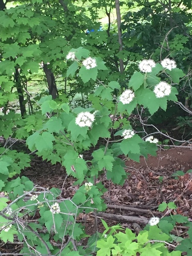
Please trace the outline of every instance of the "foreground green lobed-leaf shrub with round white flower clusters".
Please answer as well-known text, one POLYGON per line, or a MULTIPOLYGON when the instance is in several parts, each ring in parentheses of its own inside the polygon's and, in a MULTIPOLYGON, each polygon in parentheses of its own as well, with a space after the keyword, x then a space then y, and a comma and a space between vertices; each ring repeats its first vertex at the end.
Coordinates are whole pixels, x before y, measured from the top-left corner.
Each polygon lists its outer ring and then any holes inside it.
MULTIPOLYGON (((133 74, 123 91, 118 81, 111 81, 108 77, 105 62, 100 57, 90 55, 89 50, 80 47, 72 49, 65 59, 69 66, 67 77, 78 77, 84 87, 87 82, 95 83, 96 89, 88 96, 89 108, 71 110, 66 97, 60 101, 45 96, 37 102, 40 111, 20 121, 23 124, 22 133, 31 133, 26 141, 29 150, 52 164, 61 163, 67 175, 76 178, 78 189, 74 196, 63 199, 60 189, 34 186, 26 177, 9 181, 22 168, 29 166, 30 159, 27 154, 9 149, 5 151, 5 148, 1 152, 0 186, 9 199, 0 198, 0 238, 4 242, 13 242, 17 236, 24 242, 22 253, 35 251, 40 255, 67 255, 75 250, 74 240, 85 236, 82 225, 76 223, 77 216, 81 212, 106 208, 102 197, 106 189, 101 182, 96 182, 97 178, 105 173, 107 179, 123 185, 127 173, 120 155, 138 162, 140 156, 156 155, 157 143, 160 143, 158 139, 146 133, 141 137, 132 129, 128 118, 133 110, 141 105, 153 115, 159 108, 166 110, 168 100, 177 101, 175 84, 179 83, 183 73, 178 72, 173 60, 167 58, 161 63, 142 60, 138 65, 140 71, 133 74), (97 77, 102 76, 103 81, 100 81, 97 77), (119 92, 118 96, 114 96, 114 91, 119 92), (105 143, 98 144, 99 139, 105 143), (89 151, 90 148, 93 151, 89 151), (83 156, 87 151, 92 154, 86 160, 83 156), (26 200, 26 196, 30 199, 26 200), (37 211, 37 222, 30 222, 37 211), (50 238, 58 241, 61 248, 50 243, 50 238)), ((14 133, 16 138, 21 138, 19 132, 14 133)), ((179 217, 174 221, 185 221, 189 225, 186 219, 179 217)), ((165 228, 172 230, 174 223, 173 219, 152 217, 150 228, 141 231, 137 237, 130 229, 126 229, 125 233, 107 233, 110 228, 104 224, 106 230, 100 240, 85 250, 78 247, 79 252, 74 251, 70 255, 89 254, 94 250, 98 250, 97 255, 102 256, 136 255, 137 252, 140 255, 179 255, 176 251, 169 253, 165 247, 166 243, 175 241, 165 228)), ((115 228, 121 229, 119 225, 112 230, 115 228)), ((93 244, 93 240, 90 241, 93 244)))

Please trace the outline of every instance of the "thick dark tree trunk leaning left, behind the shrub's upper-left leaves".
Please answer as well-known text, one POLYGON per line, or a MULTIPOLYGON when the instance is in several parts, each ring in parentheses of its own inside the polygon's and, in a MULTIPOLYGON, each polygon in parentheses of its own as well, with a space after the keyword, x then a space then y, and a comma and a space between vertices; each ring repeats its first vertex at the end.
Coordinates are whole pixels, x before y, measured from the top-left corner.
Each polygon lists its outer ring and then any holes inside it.
POLYGON ((49 94, 52 96, 53 99, 56 99, 58 96, 57 86, 55 82, 54 74, 50 69, 48 69, 47 64, 44 64, 44 72, 47 78, 49 94))

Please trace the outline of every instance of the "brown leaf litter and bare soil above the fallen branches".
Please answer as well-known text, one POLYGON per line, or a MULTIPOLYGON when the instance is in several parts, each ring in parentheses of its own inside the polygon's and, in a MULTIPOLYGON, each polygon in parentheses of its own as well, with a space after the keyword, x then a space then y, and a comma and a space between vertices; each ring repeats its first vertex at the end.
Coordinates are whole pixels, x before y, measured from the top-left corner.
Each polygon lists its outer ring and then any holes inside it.
MULTIPOLYGON (((123 186, 102 178, 108 188, 104 194, 106 203, 148 209, 157 207, 163 201, 174 201, 180 214, 192 216, 192 174, 185 174, 178 179, 173 177, 178 170, 186 173, 192 169, 192 150, 178 147, 161 149, 157 157, 149 156, 147 160, 141 157, 140 163, 132 160, 126 160, 125 163, 126 172, 130 175, 123 186)), ((66 178, 65 168, 59 164, 42 162, 38 158, 22 175, 43 187, 64 187, 64 198, 72 197, 78 189, 78 185, 73 185, 73 177, 66 178)), ((150 215, 148 217, 151 218, 150 215)))

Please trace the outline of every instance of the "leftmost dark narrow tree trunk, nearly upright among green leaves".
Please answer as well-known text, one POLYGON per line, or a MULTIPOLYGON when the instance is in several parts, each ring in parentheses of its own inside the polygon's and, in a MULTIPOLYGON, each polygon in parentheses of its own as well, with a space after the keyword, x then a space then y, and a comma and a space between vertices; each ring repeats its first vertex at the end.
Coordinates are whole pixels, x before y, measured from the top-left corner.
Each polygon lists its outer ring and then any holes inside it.
POLYGON ((25 100, 24 100, 24 91, 23 91, 22 83, 20 81, 20 74, 17 68, 15 69, 15 84, 16 84, 16 89, 18 93, 20 114, 22 116, 25 116, 27 112, 26 112, 26 106, 25 106, 25 100))

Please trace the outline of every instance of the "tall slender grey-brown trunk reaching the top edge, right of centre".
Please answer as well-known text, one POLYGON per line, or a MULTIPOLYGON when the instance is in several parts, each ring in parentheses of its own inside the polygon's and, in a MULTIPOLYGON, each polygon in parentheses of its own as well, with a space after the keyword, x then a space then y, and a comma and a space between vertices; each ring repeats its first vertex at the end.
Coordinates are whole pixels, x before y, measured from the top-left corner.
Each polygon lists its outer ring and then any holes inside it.
MULTIPOLYGON (((122 42, 122 31, 121 31, 121 13, 120 13, 120 4, 119 0, 115 0, 115 8, 116 8, 116 14, 117 14, 117 29, 118 29, 118 39, 119 39, 119 52, 123 50, 123 42, 122 42)), ((120 67, 120 73, 122 74, 124 72, 123 68, 123 60, 119 59, 119 67, 120 67)))

